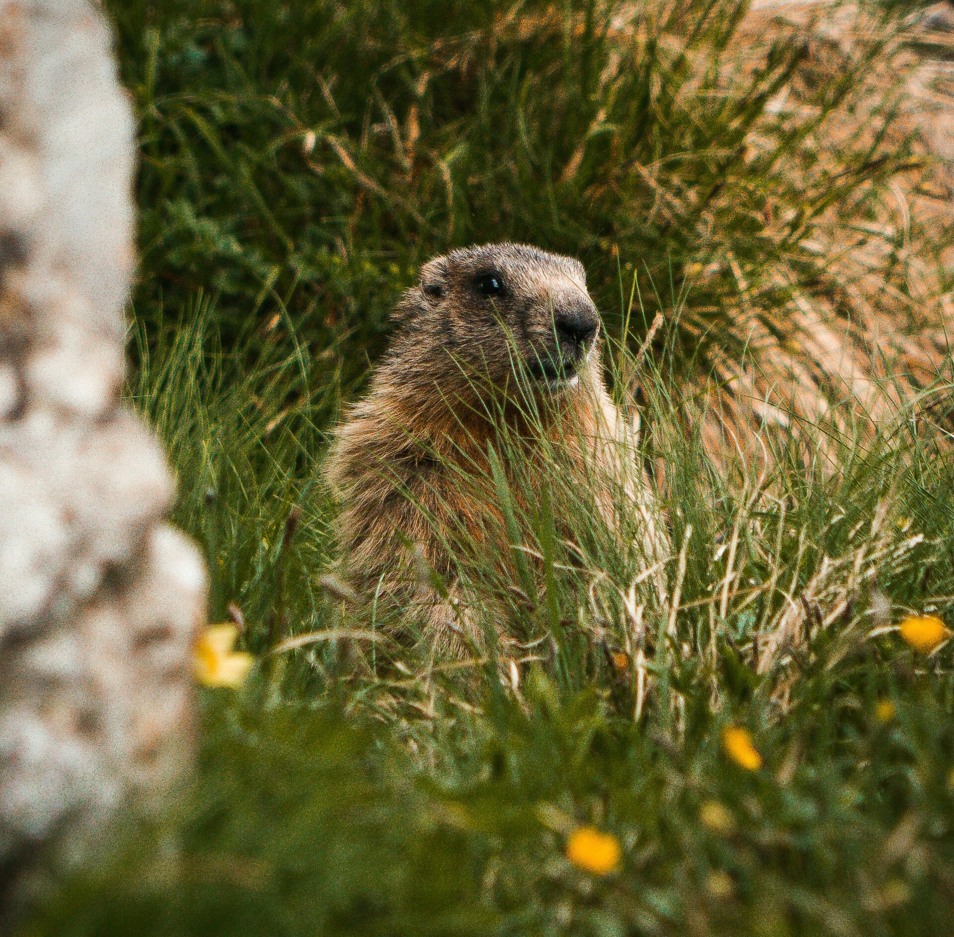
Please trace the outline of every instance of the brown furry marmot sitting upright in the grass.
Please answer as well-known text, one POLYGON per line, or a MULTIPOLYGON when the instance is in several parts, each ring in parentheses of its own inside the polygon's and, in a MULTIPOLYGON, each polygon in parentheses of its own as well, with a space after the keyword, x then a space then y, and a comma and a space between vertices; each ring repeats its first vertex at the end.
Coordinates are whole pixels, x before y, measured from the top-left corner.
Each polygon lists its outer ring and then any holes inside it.
MULTIPOLYGON (((487 397, 499 391, 506 400, 528 383, 547 398, 548 435, 577 440, 570 443, 575 458, 590 467, 616 479, 622 472, 645 519, 647 553, 659 554, 664 538, 642 470, 618 464, 622 420, 603 383, 600 318, 578 260, 522 244, 454 251, 425 264, 396 316, 398 333, 369 393, 339 427, 325 469, 342 506, 344 573, 359 592, 416 607, 425 640, 463 650, 451 621, 459 614, 422 584, 420 560, 415 575, 406 545, 452 582, 442 528, 479 537, 488 516, 499 519, 492 488, 475 499, 459 484, 461 471, 491 476, 493 413, 518 434, 527 430, 516 425, 519 406, 495 409, 487 397)), ((532 438, 527 455, 533 458, 532 438)), ((612 511, 600 492, 594 497, 600 510, 612 511)))

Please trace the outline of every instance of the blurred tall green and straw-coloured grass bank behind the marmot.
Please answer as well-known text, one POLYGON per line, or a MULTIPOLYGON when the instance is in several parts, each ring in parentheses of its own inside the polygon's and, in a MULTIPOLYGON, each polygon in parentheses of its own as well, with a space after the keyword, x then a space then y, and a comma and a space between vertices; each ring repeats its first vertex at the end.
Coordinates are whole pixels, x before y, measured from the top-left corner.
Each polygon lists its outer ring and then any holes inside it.
POLYGON ((892 188, 919 160, 880 4, 841 45, 745 31, 743 0, 107 6, 142 115, 152 327, 203 290, 229 344, 280 315, 317 380, 360 377, 420 263, 527 240, 579 256, 611 317, 620 260, 649 320, 691 284, 678 368, 731 381, 745 350, 771 386, 800 354, 814 415, 843 394, 819 323, 854 322, 871 357, 865 329, 890 351, 929 316, 919 262, 949 221, 925 242, 892 188))

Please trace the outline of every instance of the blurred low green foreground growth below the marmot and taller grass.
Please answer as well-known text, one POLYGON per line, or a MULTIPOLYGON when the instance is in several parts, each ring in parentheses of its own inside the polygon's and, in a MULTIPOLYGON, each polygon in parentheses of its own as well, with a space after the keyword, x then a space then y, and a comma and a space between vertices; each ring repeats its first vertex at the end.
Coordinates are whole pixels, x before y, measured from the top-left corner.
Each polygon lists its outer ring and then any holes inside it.
POLYGON ((25 932, 944 933, 949 701, 893 649, 872 653, 882 682, 863 654, 803 675, 812 720, 752 714, 757 775, 720 755, 724 716, 690 707, 676 745, 542 680, 423 787, 340 719, 231 707, 187 805, 74 876, 25 932), (870 709, 881 693, 898 700, 889 725, 870 709), (580 823, 619 837, 619 874, 570 866, 580 823))

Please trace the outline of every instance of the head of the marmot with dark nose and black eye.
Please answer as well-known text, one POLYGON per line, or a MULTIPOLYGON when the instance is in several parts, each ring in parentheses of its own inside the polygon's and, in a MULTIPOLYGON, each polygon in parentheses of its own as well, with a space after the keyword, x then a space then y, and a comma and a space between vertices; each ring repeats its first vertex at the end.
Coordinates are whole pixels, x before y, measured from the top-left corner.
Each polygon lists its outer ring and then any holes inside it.
POLYGON ((498 385, 524 368, 541 386, 569 389, 596 360, 600 321, 583 265, 535 247, 487 244, 436 257, 401 310, 413 323, 408 338, 439 341, 498 385))

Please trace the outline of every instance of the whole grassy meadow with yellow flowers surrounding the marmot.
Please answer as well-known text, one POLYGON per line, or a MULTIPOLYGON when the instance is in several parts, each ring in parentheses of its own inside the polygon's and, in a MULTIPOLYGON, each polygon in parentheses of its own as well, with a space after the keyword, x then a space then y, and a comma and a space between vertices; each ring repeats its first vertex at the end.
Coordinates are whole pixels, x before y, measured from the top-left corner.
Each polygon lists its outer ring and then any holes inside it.
POLYGON ((841 43, 736 0, 104 5, 141 136, 128 393, 255 664, 22 934, 946 932, 954 650, 910 620, 954 625, 954 270, 917 5, 841 43), (643 575, 623 494, 621 534, 559 452, 532 508, 478 479, 507 529, 451 542, 517 642, 448 663, 349 598, 321 464, 419 265, 503 239, 583 260, 672 555, 643 575))

